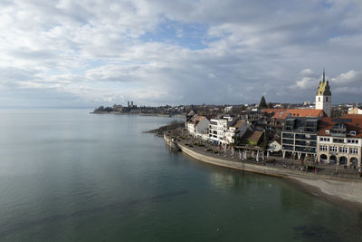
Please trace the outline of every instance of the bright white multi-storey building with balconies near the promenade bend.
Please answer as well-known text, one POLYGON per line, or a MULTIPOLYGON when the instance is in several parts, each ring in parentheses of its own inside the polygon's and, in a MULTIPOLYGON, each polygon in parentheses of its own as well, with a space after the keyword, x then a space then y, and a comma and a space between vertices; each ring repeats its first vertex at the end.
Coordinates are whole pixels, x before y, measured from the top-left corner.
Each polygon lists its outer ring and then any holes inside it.
POLYGON ((209 140, 217 144, 226 143, 226 131, 233 124, 231 116, 224 116, 219 119, 211 119, 209 124, 209 140))

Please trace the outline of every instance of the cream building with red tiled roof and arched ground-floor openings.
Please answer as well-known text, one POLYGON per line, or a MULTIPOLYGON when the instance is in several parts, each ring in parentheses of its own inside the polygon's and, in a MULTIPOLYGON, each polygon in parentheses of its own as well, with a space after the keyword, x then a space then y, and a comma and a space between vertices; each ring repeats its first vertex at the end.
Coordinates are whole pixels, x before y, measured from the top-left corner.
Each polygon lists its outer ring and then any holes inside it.
POLYGON ((318 160, 338 165, 361 166, 362 115, 323 118, 319 124, 318 160))

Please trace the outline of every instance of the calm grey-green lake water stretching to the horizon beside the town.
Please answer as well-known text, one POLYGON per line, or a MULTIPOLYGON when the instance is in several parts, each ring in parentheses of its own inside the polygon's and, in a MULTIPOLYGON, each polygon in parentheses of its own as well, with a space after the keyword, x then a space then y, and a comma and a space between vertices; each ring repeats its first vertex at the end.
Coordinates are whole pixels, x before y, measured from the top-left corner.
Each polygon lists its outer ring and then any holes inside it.
POLYGON ((170 118, 0 111, 0 241, 361 241, 362 214, 142 131, 170 118))

